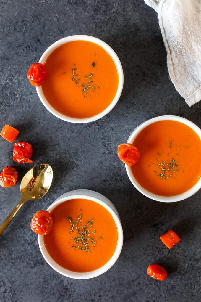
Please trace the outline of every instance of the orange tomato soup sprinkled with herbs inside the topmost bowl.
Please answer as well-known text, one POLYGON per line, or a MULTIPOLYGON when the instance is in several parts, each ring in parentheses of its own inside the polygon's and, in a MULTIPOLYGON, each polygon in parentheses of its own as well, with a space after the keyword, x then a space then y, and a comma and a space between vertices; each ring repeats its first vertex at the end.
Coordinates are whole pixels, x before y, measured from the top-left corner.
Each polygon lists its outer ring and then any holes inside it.
POLYGON ((89 41, 71 41, 55 49, 44 63, 47 78, 42 91, 61 114, 87 118, 104 111, 118 89, 112 57, 89 41))

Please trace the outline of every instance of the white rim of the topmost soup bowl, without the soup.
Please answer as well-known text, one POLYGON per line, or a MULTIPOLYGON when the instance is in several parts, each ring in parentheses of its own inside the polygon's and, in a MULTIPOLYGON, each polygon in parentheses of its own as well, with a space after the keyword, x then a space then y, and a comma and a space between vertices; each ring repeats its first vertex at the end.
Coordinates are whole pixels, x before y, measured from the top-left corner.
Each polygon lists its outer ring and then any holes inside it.
POLYGON ((123 73, 123 68, 122 68, 120 59, 118 58, 115 51, 107 43, 100 40, 99 38, 96 38, 93 36, 88 36, 88 35, 73 35, 73 36, 68 36, 68 37, 64 37, 62 39, 57 40, 56 42, 54 42, 52 45, 50 45, 45 50, 45 52, 42 54, 42 56, 39 59, 39 63, 44 64, 47 57, 50 55, 50 53, 52 53, 52 51, 55 50, 58 46, 60 46, 64 43, 67 43, 67 42, 75 41, 75 40, 84 40, 84 41, 96 43, 96 44, 100 45, 102 48, 104 48, 104 50, 106 50, 109 53, 109 55, 113 58, 113 61, 116 65, 117 72, 118 72, 119 84, 118 84, 116 95, 115 95, 114 99, 112 100, 112 102, 109 104, 109 106, 105 110, 103 110, 99 114, 96 114, 92 117, 75 118, 75 117, 68 117, 68 116, 56 111, 44 97, 41 86, 36 87, 36 92, 39 96, 40 101, 42 102, 42 104, 46 107, 46 109, 50 113, 52 113, 56 117, 60 118, 61 120, 65 120, 65 121, 71 122, 71 123, 83 124, 83 123, 90 123, 95 120, 99 120, 100 118, 102 118, 106 114, 108 114, 115 107, 115 105, 117 104, 117 102, 121 96, 122 90, 123 90, 124 73, 123 73))

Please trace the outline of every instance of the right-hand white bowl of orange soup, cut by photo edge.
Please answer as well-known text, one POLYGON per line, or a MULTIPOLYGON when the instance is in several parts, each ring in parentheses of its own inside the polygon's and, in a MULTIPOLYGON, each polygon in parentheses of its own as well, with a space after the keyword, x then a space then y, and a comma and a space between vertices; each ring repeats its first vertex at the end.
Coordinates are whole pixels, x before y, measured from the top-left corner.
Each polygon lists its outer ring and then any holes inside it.
POLYGON ((140 152, 135 165, 126 165, 127 175, 145 196, 175 202, 201 188, 201 130, 190 120, 154 117, 138 126, 127 143, 140 152))

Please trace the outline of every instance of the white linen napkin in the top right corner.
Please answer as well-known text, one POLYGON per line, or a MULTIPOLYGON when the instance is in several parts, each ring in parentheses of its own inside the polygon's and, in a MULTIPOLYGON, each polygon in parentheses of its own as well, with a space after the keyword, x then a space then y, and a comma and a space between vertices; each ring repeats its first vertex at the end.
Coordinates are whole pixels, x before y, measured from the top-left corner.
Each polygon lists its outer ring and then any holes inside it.
POLYGON ((144 0, 158 13, 175 88, 191 106, 201 100, 201 0, 144 0))

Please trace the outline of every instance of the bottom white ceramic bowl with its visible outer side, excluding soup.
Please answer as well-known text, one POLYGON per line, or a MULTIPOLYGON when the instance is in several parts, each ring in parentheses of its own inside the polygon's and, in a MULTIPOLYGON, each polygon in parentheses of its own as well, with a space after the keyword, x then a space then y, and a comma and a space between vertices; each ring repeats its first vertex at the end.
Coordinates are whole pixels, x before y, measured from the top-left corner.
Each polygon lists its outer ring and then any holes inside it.
POLYGON ((123 246, 123 230, 122 230, 122 226, 121 226, 121 220, 120 220, 119 214, 118 214, 115 206, 111 203, 111 201, 108 200, 108 198, 106 198, 102 194, 99 194, 95 191, 74 190, 74 191, 67 192, 67 193, 61 195, 59 198, 57 198, 48 207, 47 211, 51 212, 58 204, 61 204, 64 201, 76 199, 76 198, 83 198, 83 199, 89 199, 89 200, 95 201, 95 202, 101 204, 103 207, 105 207, 111 213, 111 215, 116 223, 117 230, 118 230, 118 243, 117 243, 117 247, 115 249, 115 252, 114 252, 114 255, 112 256, 112 258, 104 266, 102 266, 99 269, 96 269, 96 270, 90 271, 90 272, 78 273, 78 272, 74 272, 74 271, 69 271, 69 270, 61 267, 50 257, 49 253, 46 250, 46 246, 44 244, 42 235, 38 235, 38 243, 39 243, 39 248, 40 248, 40 251, 41 251, 44 259, 55 271, 57 271, 61 275, 69 277, 69 278, 89 279, 89 278, 94 278, 94 277, 97 277, 97 276, 105 273, 105 271, 107 271, 109 268, 111 268, 112 265, 115 264, 115 262, 117 261, 119 255, 121 253, 122 246, 123 246))

